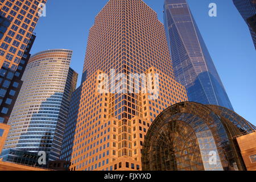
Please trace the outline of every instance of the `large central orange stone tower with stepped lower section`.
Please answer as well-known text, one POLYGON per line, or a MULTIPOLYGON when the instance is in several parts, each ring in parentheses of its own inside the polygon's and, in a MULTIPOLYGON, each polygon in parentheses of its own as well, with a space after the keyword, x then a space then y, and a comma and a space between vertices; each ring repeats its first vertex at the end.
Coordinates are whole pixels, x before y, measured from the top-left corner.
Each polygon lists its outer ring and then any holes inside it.
POLYGON ((90 28, 83 80, 70 169, 141 170, 151 122, 187 100, 155 11, 142 0, 110 0, 90 28))

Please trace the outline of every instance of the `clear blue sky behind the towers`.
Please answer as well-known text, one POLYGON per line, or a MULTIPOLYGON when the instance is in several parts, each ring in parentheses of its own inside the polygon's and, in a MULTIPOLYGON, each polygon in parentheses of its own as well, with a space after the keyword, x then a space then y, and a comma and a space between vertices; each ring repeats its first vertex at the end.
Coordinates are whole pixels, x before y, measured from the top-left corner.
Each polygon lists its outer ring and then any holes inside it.
MULTIPOLYGON (((48 0, 47 16, 36 27, 31 53, 46 49, 73 50, 71 67, 79 73, 89 28, 107 0, 48 0)), ((144 0, 163 22, 163 0, 144 0)), ((249 28, 232 0, 188 0, 199 30, 234 109, 256 125, 256 51, 249 28), (217 4, 217 17, 209 17, 209 3, 217 4)))

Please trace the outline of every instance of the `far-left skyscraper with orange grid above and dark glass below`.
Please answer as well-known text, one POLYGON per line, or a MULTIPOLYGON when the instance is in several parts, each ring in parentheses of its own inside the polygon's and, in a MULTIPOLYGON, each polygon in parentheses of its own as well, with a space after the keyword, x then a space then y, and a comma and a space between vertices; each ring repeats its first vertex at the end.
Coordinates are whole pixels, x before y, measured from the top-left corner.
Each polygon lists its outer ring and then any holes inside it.
POLYGON ((6 123, 22 85, 20 79, 30 59, 35 40, 32 32, 45 3, 46 0, 0 1, 0 152, 8 133, 6 123))

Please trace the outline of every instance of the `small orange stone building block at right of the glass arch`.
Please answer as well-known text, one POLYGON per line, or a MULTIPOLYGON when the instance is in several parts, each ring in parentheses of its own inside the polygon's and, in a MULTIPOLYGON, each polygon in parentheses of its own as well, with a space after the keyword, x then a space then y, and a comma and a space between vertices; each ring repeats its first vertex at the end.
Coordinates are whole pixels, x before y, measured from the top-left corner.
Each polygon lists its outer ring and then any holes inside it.
POLYGON ((237 138, 243 162, 248 171, 256 171, 256 130, 237 138))

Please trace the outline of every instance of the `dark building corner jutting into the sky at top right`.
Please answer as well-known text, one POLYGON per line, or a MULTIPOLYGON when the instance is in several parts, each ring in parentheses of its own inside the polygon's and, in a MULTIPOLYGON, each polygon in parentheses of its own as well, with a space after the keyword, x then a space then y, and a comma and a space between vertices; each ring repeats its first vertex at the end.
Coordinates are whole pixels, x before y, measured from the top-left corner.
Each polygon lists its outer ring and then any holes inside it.
POLYGON ((233 0, 237 10, 248 24, 256 49, 256 1, 255 0, 233 0))

